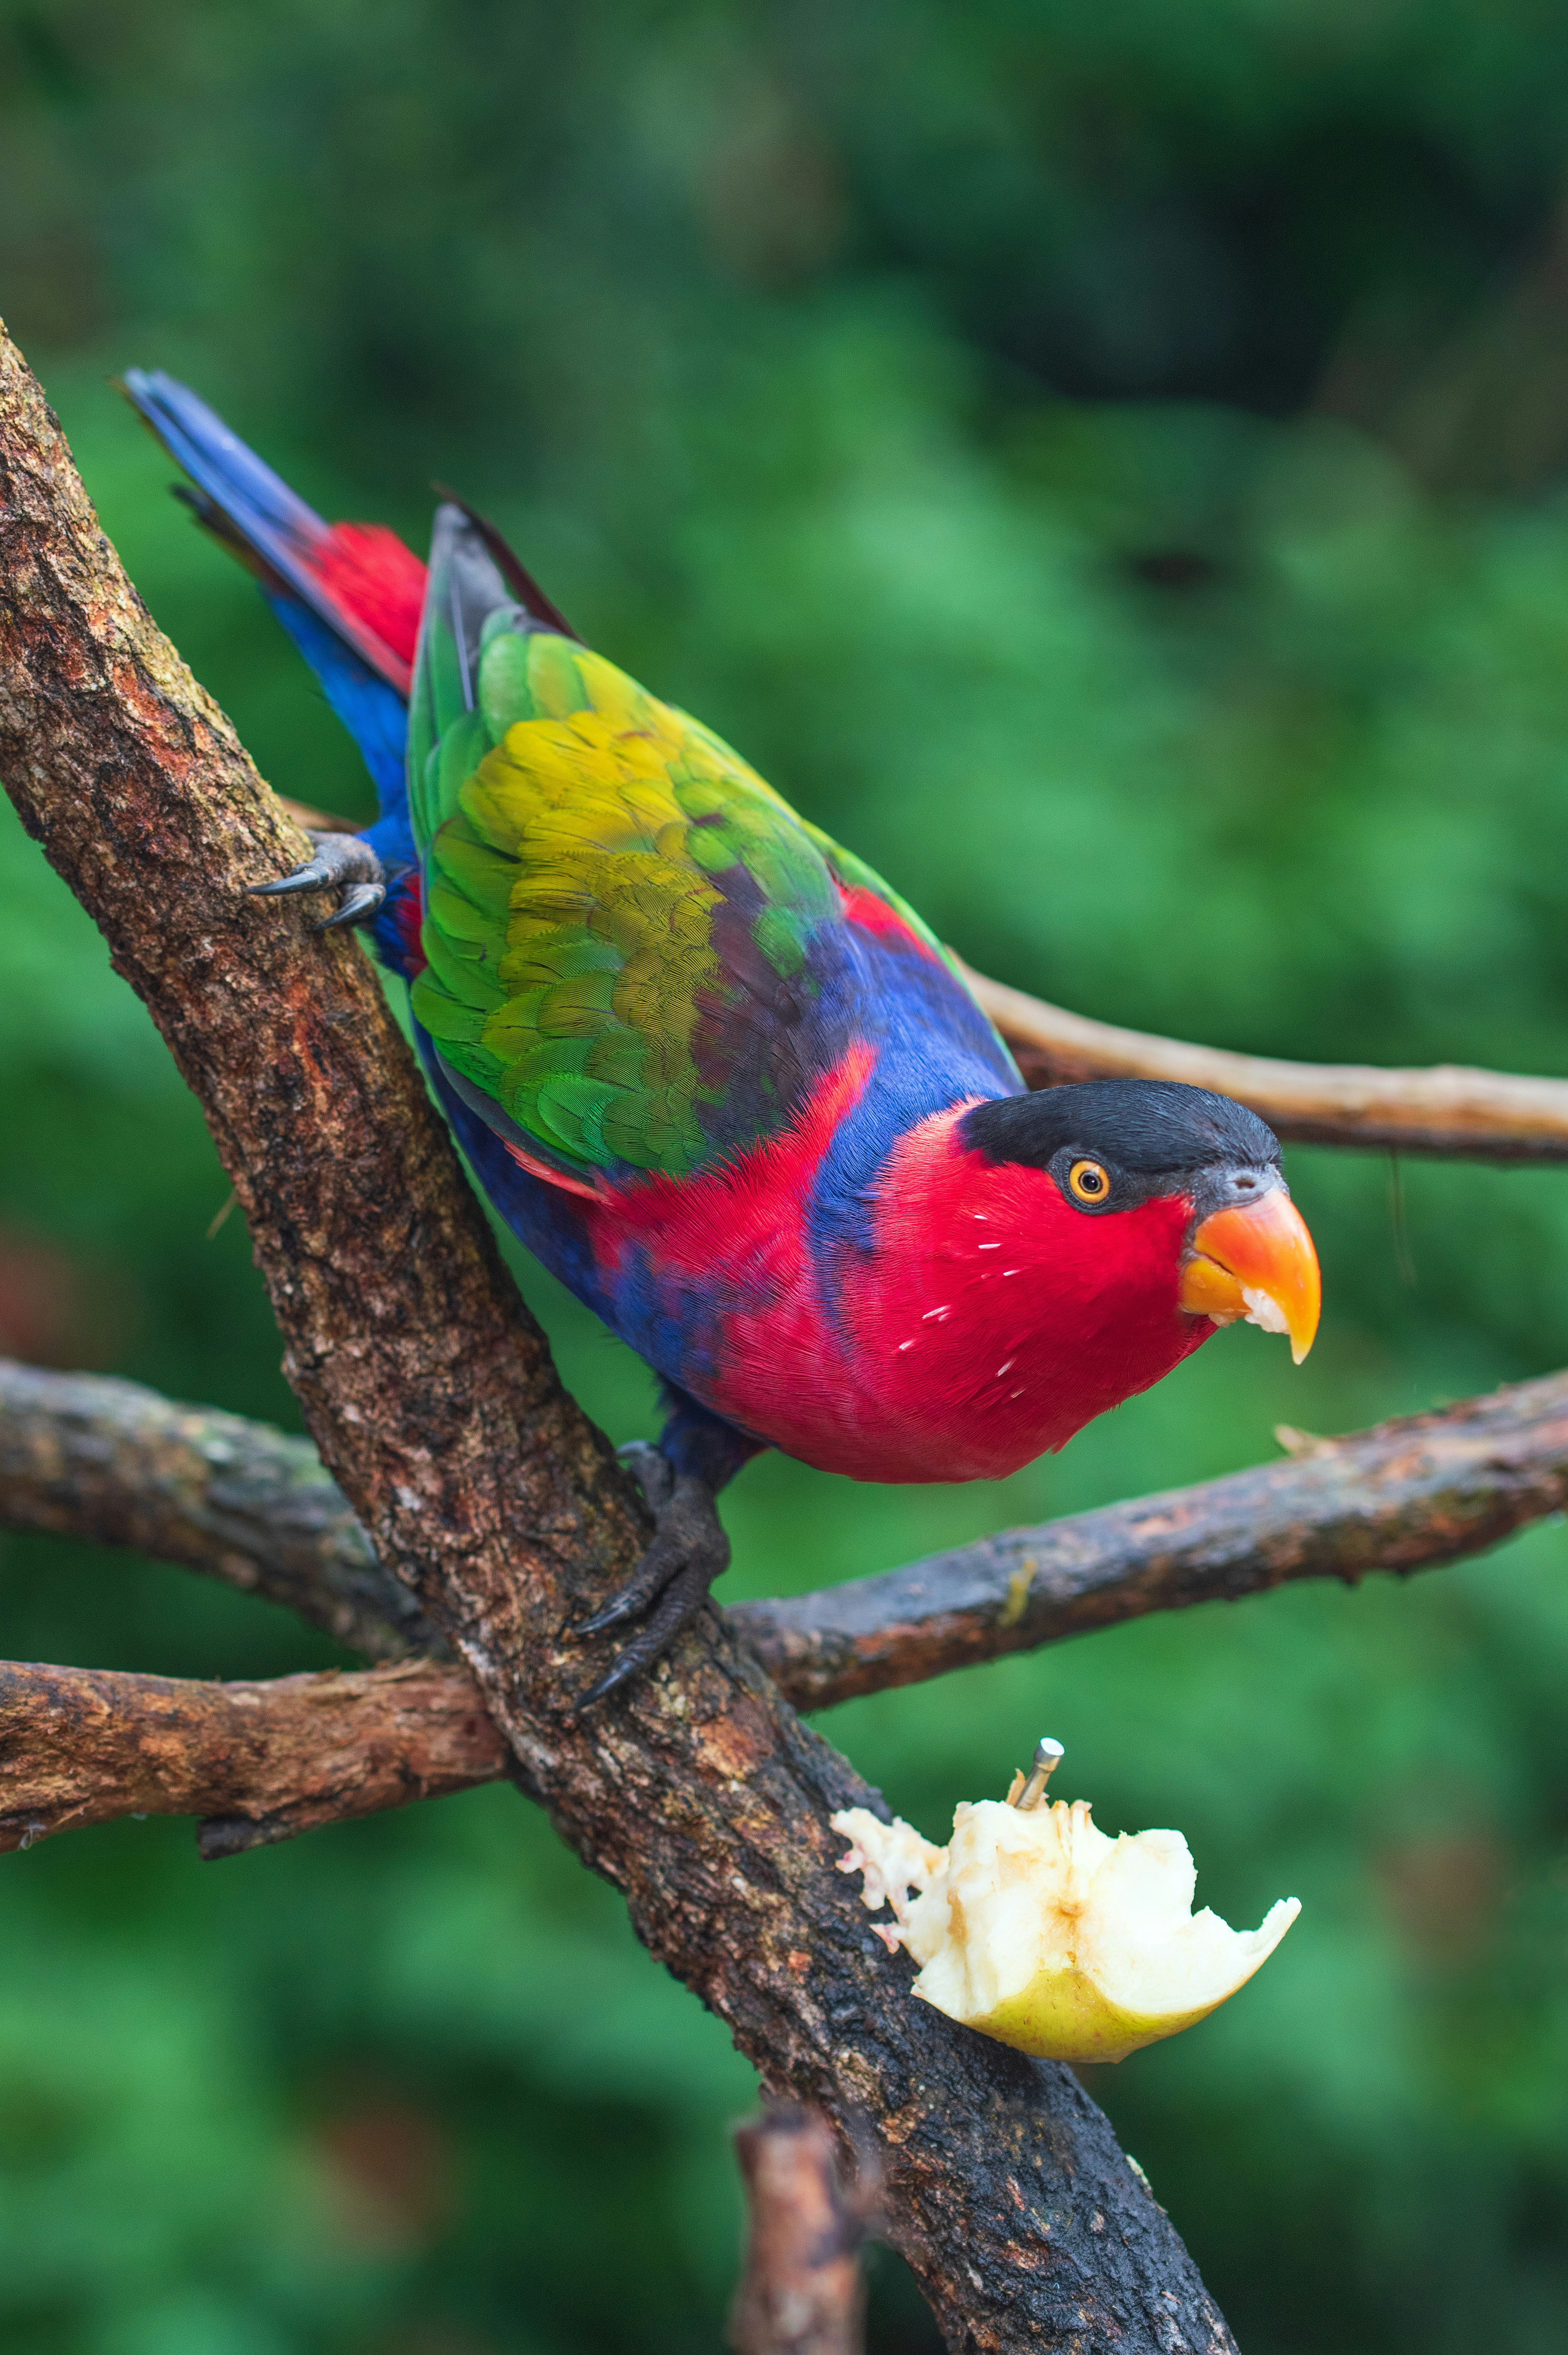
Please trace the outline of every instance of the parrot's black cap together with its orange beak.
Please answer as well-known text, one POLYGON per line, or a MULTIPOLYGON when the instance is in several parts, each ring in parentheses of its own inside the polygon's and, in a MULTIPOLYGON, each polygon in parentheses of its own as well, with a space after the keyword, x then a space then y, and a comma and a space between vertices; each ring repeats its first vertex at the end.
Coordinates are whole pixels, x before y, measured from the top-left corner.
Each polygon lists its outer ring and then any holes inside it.
POLYGON ((1318 1258, 1278 1137, 1245 1104, 1172 1079, 1088 1079, 975 1104, 958 1135, 991 1163, 1045 1170, 1088 1218, 1187 1199, 1180 1305, 1215 1324, 1288 1333, 1297 1364, 1311 1349, 1318 1258))

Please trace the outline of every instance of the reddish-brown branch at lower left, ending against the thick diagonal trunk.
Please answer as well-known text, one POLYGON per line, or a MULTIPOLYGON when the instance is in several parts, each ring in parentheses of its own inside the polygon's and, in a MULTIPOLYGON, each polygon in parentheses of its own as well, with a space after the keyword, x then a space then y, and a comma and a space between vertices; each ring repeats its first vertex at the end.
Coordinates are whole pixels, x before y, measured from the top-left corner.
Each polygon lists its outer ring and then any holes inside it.
POLYGON ((440 1660, 268 1684, 0 1663, 0 1851, 108 1816, 202 1816, 202 1856, 490 1783, 478 1686, 440 1660))

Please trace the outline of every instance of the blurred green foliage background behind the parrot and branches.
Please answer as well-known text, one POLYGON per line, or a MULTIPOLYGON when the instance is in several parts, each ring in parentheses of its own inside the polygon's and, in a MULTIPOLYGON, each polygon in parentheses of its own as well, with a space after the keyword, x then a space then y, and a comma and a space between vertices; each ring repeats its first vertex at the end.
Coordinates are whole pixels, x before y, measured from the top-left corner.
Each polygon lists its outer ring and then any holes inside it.
MULTIPOLYGON (((330 513, 487 506, 975 963, 1227 1046, 1561 1069, 1568 19, 1540 0, 31 0, 0 313, 264 772, 365 810, 290 648, 106 389, 224 407, 330 513)), ((0 1347, 292 1420, 193 1102, 0 834, 0 1347)), ((155 888, 155 878, 148 878, 155 888)), ((1290 1154, 1328 1314, 1231 1333, 1008 1488, 730 1500, 732 1592, 895 1564, 1568 1361, 1568 1180, 1290 1154)), ((640 1368, 525 1272, 617 1437, 640 1368)), ((841 1710, 942 1835, 1041 1729, 1278 1959, 1095 2094, 1248 2355, 1568 2343, 1563 1531, 841 1710)), ((0 1651, 330 1651, 5 1540, 0 1651)), ((490 1790, 198 1868, 0 1868, 14 2355, 720 2343, 751 2101, 490 1790)), ((873 2343, 932 2346, 883 2261, 873 2343)))

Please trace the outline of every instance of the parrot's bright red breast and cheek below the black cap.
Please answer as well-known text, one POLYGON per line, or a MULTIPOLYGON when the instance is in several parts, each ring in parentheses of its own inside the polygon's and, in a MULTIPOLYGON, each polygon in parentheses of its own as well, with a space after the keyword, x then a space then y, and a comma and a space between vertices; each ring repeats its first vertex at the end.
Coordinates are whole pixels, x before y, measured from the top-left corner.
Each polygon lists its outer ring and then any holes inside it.
POLYGON ((725 1168, 593 1206, 593 1251, 687 1333, 702 1298, 680 1380, 742 1429, 855 1479, 1003 1479, 1215 1331, 1177 1305, 1191 1203, 1085 1220, 1045 1170, 968 1149, 956 1104, 895 1145, 869 1248, 824 1258, 812 1189, 871 1062, 848 1055, 789 1135, 725 1168))

